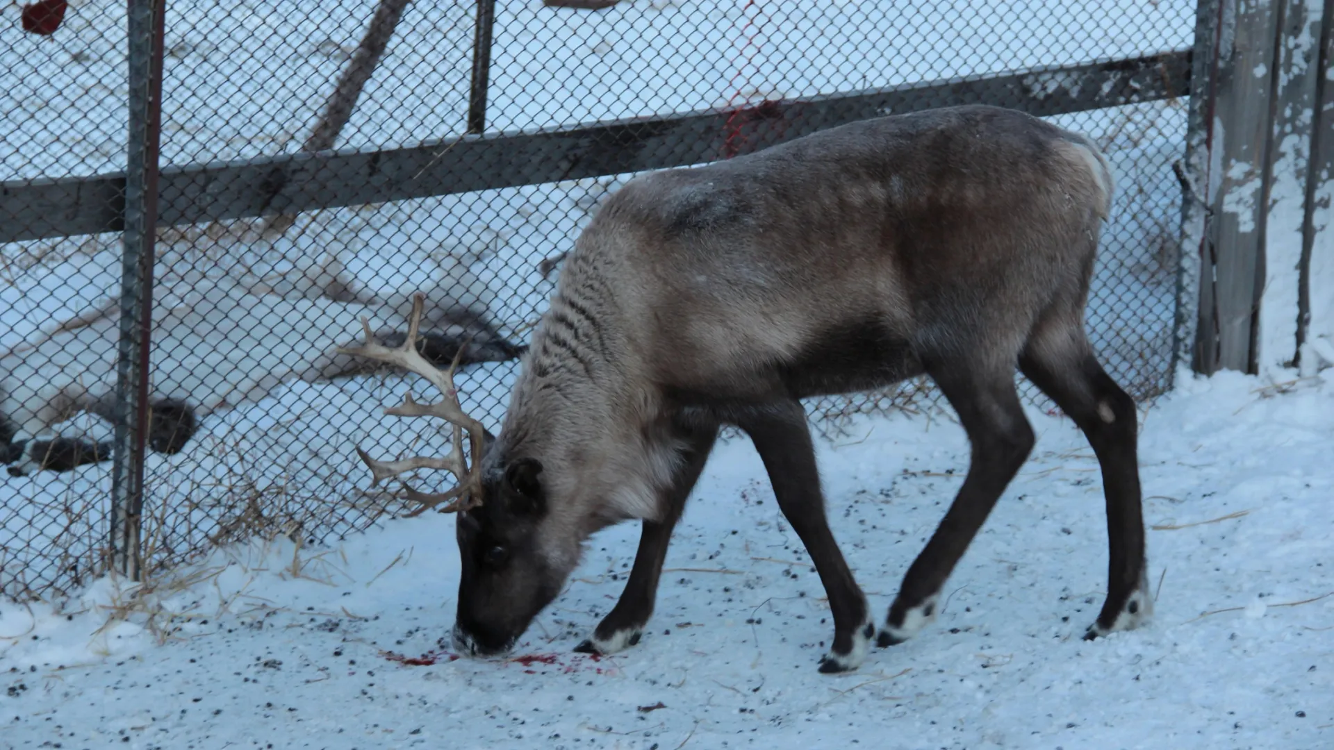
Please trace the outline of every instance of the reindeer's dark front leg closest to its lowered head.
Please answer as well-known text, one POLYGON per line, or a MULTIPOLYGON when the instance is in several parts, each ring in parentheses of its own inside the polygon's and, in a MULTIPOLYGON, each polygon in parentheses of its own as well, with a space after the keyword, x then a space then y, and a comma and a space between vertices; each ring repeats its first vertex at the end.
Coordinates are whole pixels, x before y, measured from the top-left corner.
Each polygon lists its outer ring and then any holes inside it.
POLYGON ((658 581, 662 578, 663 560, 667 559, 667 544, 671 543, 672 528, 680 520, 680 514, 686 510, 686 499, 695 488, 699 474, 704 470, 710 451, 714 450, 714 440, 718 439, 718 427, 698 430, 687 436, 690 448, 686 460, 676 470, 676 476, 671 487, 664 490, 658 503, 663 508, 660 520, 643 522, 643 531, 639 536, 639 552, 635 554, 635 566, 630 570, 630 581, 620 594, 616 606, 602 618, 591 638, 575 646, 575 651, 584 654, 614 654, 639 643, 639 637, 648 625, 648 618, 654 614, 654 602, 658 598, 658 581))

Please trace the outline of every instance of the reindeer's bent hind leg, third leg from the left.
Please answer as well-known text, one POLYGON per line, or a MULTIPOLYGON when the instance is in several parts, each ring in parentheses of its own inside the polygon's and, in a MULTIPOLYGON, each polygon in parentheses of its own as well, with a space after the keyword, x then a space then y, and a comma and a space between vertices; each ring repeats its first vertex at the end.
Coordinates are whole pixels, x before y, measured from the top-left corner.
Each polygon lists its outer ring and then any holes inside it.
POLYGON ((902 643, 935 619, 938 597, 954 566, 1033 450, 1033 427, 1019 406, 1014 368, 978 372, 976 362, 950 360, 927 371, 968 434, 972 458, 963 487, 922 554, 903 577, 876 643, 902 643))

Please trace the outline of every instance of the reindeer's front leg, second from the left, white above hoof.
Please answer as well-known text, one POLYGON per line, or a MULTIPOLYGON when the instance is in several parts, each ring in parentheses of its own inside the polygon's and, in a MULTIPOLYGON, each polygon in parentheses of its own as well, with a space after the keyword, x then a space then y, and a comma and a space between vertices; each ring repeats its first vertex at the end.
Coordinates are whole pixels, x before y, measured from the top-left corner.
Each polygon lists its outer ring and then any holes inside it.
POLYGON ((820 661, 820 671, 856 669, 866 658, 875 626, 870 621, 866 595, 852 578, 824 515, 824 496, 820 494, 806 412, 800 403, 790 402, 756 410, 739 422, 764 462, 778 507, 810 552, 828 595, 834 614, 834 646, 820 661))

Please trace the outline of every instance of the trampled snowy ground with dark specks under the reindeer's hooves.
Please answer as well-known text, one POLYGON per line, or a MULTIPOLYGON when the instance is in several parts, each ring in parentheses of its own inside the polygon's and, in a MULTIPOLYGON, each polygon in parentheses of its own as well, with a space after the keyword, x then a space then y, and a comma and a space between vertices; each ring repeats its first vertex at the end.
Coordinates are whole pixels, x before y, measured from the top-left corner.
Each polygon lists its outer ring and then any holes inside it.
MULTIPOLYGON (((0 747, 1327 749, 1334 370, 1274 378, 1183 372, 1143 415, 1158 602, 1139 631, 1079 639, 1105 586, 1101 480, 1070 422, 1031 410, 1034 456, 936 625, 819 675, 823 591, 738 439, 623 654, 571 649, 619 595, 634 526, 594 538, 514 658, 452 661, 454 520, 388 520, 334 547, 231 546, 137 595, 103 579, 0 605, 0 747)), ((963 432, 859 418, 819 459, 883 614, 959 486, 963 432)))

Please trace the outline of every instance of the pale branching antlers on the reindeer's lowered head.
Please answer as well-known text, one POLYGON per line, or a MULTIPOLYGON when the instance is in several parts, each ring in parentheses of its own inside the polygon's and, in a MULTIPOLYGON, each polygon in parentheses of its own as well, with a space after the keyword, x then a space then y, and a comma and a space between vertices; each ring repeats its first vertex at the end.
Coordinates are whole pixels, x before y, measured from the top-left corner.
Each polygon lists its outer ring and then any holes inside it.
POLYGON ((356 455, 362 456, 366 466, 371 467, 372 486, 379 484, 380 479, 388 479, 414 468, 444 468, 459 480, 456 487, 446 492, 419 492, 411 487, 406 487, 408 499, 422 503, 422 507, 410 512, 408 516, 420 515, 442 503, 450 504, 442 508, 440 512, 455 512, 482 504, 482 448, 486 444, 486 428, 482 427, 480 422, 463 412, 463 407, 459 404, 459 391, 454 387, 454 370, 459 366, 459 358, 463 356, 466 346, 459 347, 459 352, 454 355, 454 363, 450 364, 450 370, 447 371, 442 371, 422 356, 416 350, 416 339, 424 304, 426 298, 420 292, 412 295, 412 315, 408 318, 408 335, 400 346, 387 347, 376 343, 371 335, 371 322, 362 318, 366 343, 359 347, 339 347, 338 350, 342 354, 398 364, 426 378, 444 394, 444 400, 442 402, 418 403, 412 400, 412 394, 410 392, 403 398, 402 404, 386 408, 384 414, 395 416, 439 416, 447 420, 454 426, 454 442, 450 446, 448 456, 412 456, 402 460, 375 460, 360 447, 356 448, 356 455), (463 458, 464 430, 468 432, 468 444, 472 454, 470 456, 471 460, 467 463, 463 458))

